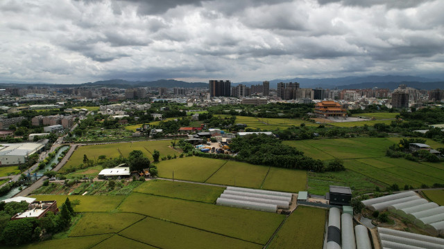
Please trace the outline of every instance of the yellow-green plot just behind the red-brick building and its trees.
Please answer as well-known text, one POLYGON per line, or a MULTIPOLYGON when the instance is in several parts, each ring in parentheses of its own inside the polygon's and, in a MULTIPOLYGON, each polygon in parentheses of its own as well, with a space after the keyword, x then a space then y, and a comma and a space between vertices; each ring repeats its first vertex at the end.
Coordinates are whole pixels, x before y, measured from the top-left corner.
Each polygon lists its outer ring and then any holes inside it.
POLYGON ((76 212, 110 212, 115 210, 117 206, 125 199, 125 196, 75 196, 75 195, 33 195, 31 196, 37 201, 57 201, 58 207, 65 203, 67 197, 73 202, 79 200, 80 204, 76 205, 76 212))

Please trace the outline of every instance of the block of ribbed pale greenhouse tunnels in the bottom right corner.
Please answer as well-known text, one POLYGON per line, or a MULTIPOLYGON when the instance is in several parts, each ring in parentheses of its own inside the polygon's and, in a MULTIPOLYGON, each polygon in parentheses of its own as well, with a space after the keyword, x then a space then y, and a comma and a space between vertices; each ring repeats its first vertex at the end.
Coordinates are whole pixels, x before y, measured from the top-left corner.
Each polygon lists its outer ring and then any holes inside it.
POLYGON ((444 239, 402 232, 387 228, 377 228, 379 241, 383 248, 429 248, 438 249, 444 247, 444 239))

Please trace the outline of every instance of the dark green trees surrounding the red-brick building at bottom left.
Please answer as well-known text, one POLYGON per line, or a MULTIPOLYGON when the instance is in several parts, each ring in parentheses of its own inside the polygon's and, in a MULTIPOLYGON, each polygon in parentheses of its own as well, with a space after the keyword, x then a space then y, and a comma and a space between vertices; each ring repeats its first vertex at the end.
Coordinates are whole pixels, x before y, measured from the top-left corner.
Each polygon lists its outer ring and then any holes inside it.
POLYGON ((24 218, 11 221, 12 216, 28 209, 28 203, 10 202, 0 203, 0 243, 3 245, 15 246, 32 241, 39 241, 43 237, 66 230, 71 224, 71 219, 75 215, 73 204, 67 198, 58 214, 47 212, 41 219, 24 218))

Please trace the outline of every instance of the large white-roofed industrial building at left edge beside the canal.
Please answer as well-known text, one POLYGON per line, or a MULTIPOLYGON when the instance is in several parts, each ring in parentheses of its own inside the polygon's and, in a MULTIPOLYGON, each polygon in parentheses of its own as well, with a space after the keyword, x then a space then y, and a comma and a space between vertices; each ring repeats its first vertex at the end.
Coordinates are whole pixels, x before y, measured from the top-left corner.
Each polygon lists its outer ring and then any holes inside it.
POLYGON ((40 142, 18 142, 0 144, 0 165, 18 165, 26 163, 28 156, 40 152, 44 144, 40 142))

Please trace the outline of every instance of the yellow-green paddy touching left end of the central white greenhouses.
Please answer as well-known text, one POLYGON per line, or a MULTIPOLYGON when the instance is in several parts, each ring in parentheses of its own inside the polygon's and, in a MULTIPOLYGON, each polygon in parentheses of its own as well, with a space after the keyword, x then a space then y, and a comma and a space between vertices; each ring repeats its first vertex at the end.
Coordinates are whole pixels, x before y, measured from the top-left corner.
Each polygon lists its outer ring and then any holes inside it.
POLYGON ((182 183, 178 181, 151 180, 136 187, 134 192, 167 196, 189 201, 215 203, 216 199, 223 193, 223 190, 225 190, 224 187, 182 183))

